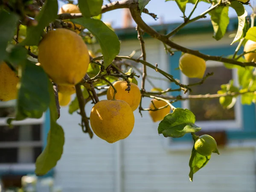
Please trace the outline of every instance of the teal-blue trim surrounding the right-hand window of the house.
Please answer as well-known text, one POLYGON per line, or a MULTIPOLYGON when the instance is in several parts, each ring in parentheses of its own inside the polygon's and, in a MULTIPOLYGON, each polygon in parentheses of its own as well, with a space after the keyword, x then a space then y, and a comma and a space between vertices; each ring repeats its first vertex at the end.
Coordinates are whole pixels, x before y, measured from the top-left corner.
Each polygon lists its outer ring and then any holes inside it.
MULTIPOLYGON (((199 49, 200 52, 209 55, 219 55, 219 56, 227 56, 232 55, 236 46, 228 46, 228 47, 218 47, 218 48, 207 48, 207 49, 199 49)), ((242 52, 240 50, 240 52, 242 52)), ((239 54, 239 53, 238 53, 239 54)), ((175 70, 179 67, 179 58, 181 52, 175 52, 175 55, 169 56, 170 63, 170 73, 174 76, 175 79, 180 79, 180 70, 175 70)), ((172 89, 179 88, 175 84, 171 84, 172 89)), ((177 96, 180 95, 180 92, 174 92, 172 95, 177 96)), ((241 104, 240 104, 241 105, 241 104)), ((181 102, 175 102, 175 107, 181 108, 181 102)), ((242 105, 242 129, 239 131, 227 130, 227 139, 229 140, 247 140, 247 139, 256 139, 256 111, 255 105, 242 105)), ((204 129, 204 128, 202 128, 204 129)), ((190 134, 186 134, 181 138, 173 138, 175 142, 189 141, 192 140, 190 134)))

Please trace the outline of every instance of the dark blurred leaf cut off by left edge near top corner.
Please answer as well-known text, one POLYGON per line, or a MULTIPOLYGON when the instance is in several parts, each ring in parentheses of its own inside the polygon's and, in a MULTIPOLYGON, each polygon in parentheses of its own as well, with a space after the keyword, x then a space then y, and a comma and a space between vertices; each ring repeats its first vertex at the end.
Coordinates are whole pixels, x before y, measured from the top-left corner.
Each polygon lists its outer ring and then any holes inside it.
POLYGON ((15 33, 18 20, 19 17, 15 13, 0 10, 0 29, 2 29, 0 35, 0 63, 7 57, 6 47, 15 33))

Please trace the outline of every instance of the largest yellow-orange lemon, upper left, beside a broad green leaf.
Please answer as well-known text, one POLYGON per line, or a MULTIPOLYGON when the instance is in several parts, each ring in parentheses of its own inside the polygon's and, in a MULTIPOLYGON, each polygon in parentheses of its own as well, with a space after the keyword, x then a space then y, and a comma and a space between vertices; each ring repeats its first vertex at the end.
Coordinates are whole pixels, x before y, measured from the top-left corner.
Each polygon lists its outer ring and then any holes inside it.
POLYGON ((38 61, 56 84, 75 85, 85 76, 90 57, 86 44, 75 32, 51 30, 38 47, 38 61))

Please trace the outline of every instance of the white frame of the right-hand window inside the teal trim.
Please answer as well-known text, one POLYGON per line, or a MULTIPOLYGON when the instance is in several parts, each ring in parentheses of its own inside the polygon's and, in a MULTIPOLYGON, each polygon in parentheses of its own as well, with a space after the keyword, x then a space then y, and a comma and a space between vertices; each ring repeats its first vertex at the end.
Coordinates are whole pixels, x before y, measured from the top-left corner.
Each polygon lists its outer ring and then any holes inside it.
MULTIPOLYGON (((223 66, 222 62, 207 61, 207 67, 223 66)), ((237 69, 232 69, 232 77, 234 85, 238 86, 237 69)), ((189 84, 189 78, 180 71, 180 81, 182 84, 189 84)), ((189 93, 181 93, 182 97, 188 96, 189 93)), ((181 101, 182 108, 189 109, 189 100, 181 101)), ((204 131, 217 131, 217 130, 241 130, 242 129, 242 108, 240 104, 240 96, 237 97, 236 104, 234 105, 235 119, 234 120, 214 120, 214 121, 196 121, 196 125, 204 128, 204 131)))

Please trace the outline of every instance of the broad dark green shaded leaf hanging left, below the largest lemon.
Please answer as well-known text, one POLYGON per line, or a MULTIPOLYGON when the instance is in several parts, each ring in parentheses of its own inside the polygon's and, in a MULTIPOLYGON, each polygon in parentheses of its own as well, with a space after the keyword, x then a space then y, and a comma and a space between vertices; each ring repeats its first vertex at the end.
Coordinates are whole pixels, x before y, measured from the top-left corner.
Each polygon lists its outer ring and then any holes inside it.
POLYGON ((21 71, 19 69, 20 75, 15 119, 41 118, 50 103, 47 85, 48 77, 42 67, 30 61, 26 61, 21 66, 21 71))

